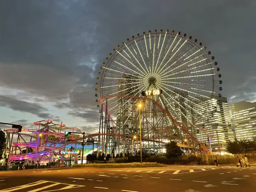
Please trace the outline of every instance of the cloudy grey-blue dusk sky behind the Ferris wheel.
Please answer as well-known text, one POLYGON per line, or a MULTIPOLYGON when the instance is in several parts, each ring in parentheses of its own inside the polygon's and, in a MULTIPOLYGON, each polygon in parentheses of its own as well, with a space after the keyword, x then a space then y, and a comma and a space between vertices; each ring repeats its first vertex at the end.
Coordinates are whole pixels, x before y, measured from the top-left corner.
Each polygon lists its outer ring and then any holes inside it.
POLYGON ((219 63, 222 96, 255 102, 255 10, 256 0, 1 0, 0 122, 95 132, 102 62, 155 29, 197 38, 219 63))

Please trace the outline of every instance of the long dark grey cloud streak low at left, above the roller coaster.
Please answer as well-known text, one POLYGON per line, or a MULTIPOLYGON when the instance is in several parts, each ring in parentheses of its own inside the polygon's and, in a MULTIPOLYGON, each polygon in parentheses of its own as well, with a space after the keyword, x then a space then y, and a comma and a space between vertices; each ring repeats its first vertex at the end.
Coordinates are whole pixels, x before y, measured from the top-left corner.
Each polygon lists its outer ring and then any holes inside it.
POLYGON ((59 119, 58 116, 53 116, 50 113, 47 113, 46 111, 48 111, 48 109, 39 104, 17 100, 10 96, 0 95, 0 105, 16 111, 28 112, 44 119, 59 119))

